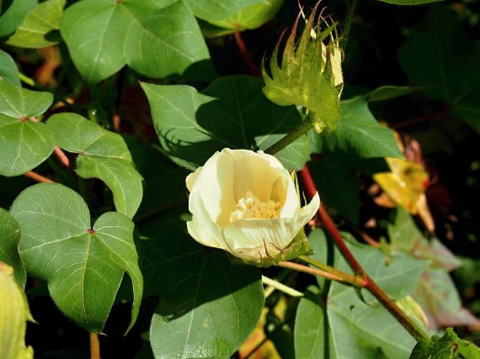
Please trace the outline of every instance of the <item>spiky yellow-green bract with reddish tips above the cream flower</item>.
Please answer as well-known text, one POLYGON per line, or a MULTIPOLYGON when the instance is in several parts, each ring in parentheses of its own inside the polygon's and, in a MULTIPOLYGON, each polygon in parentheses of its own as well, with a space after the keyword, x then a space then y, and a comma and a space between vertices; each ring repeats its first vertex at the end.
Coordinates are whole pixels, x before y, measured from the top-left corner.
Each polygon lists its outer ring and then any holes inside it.
MULTIPOLYGON (((318 4, 317 4, 318 6, 318 4)), ((287 38, 282 55, 281 65, 278 64, 278 41, 270 59, 270 73, 262 62, 263 92, 275 104, 288 106, 292 104, 306 107, 315 114, 315 129, 335 129, 340 118, 340 95, 343 88, 341 71, 342 51, 336 36, 336 24, 322 17, 316 22, 313 8, 306 22, 299 41, 296 42, 296 29, 300 15, 287 38), (327 27, 321 31, 322 27, 327 27), (329 39, 327 44, 325 39, 329 39)))

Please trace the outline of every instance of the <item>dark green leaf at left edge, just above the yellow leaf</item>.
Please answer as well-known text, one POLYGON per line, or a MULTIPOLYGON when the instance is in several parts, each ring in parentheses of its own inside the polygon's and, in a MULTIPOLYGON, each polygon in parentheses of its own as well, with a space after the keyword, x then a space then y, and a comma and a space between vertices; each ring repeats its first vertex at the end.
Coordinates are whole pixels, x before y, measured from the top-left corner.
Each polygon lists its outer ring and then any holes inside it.
POLYGON ((25 288, 27 274, 18 253, 20 227, 10 213, 0 208, 0 262, 13 267, 13 274, 18 284, 25 288))

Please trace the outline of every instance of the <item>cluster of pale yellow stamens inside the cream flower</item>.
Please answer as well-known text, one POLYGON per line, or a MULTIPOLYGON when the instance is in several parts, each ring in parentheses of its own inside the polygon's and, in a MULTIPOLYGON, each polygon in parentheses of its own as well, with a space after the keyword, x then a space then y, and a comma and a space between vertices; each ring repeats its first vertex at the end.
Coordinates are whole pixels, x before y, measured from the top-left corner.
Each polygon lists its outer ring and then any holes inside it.
POLYGON ((230 222, 241 218, 278 218, 280 216, 280 202, 268 199, 267 202, 261 202, 250 191, 247 191, 245 197, 238 200, 237 209, 230 213, 230 222))

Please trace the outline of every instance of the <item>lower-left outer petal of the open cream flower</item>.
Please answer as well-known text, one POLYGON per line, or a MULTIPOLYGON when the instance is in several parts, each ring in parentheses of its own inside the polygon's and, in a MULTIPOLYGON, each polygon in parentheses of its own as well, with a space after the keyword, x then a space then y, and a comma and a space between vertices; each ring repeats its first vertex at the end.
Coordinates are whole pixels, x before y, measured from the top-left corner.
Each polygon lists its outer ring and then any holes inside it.
POLYGON ((190 194, 188 211, 192 213, 193 218, 186 223, 186 228, 193 239, 204 246, 230 251, 222 234, 221 227, 219 227, 217 223, 214 223, 210 217, 198 192, 192 192, 190 194))

